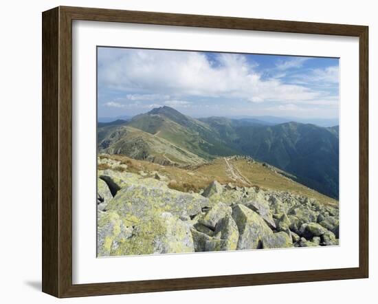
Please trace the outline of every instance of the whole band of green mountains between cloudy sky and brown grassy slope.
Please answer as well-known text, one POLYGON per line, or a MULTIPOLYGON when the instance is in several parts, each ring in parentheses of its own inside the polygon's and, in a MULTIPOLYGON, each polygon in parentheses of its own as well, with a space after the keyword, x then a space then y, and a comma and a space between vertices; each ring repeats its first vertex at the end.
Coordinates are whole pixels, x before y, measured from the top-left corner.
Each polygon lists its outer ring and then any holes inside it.
POLYGON ((171 107, 98 124, 98 150, 162 164, 249 155, 329 197, 339 193, 339 129, 260 118, 191 118, 171 107))

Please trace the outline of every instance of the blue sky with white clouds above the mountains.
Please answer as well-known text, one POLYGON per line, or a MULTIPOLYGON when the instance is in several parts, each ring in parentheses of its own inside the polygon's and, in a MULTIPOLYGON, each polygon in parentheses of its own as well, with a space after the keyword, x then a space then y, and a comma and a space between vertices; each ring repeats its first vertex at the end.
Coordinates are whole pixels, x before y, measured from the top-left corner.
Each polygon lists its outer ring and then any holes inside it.
POLYGON ((98 47, 98 116, 338 118, 339 60, 98 47))

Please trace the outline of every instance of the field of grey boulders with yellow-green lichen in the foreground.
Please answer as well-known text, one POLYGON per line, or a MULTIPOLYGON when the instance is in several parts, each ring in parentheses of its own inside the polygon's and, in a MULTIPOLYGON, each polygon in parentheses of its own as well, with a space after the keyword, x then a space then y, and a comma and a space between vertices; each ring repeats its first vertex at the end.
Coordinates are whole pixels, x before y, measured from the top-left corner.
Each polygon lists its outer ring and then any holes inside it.
POLYGON ((201 194, 184 193, 157 172, 100 162, 110 169, 98 171, 99 257, 339 243, 338 206, 216 181, 201 194))

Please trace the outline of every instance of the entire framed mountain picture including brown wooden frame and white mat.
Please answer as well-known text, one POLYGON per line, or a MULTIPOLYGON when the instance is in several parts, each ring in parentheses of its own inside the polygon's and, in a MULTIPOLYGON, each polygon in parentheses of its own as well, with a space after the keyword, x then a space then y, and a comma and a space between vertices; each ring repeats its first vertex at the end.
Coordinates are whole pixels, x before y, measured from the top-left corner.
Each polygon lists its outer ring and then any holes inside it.
POLYGON ((43 292, 368 277, 368 27, 43 12, 43 292))

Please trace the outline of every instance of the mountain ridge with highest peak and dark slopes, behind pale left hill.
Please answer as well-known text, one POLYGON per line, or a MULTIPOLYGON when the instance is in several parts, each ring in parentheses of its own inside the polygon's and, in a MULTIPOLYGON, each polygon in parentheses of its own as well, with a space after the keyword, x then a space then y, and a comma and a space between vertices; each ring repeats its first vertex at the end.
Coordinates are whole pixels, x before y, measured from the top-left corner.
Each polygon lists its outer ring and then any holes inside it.
MULTIPOLYGON (((123 125, 168 140, 204 161, 249 155, 338 199, 338 126, 318 127, 300 122, 266 125, 216 116, 196 119, 166 106, 134 116, 123 125)), ((105 128, 116 133, 118 127, 105 128)), ((100 133, 103 130, 99 127, 100 133)))

